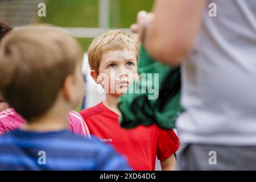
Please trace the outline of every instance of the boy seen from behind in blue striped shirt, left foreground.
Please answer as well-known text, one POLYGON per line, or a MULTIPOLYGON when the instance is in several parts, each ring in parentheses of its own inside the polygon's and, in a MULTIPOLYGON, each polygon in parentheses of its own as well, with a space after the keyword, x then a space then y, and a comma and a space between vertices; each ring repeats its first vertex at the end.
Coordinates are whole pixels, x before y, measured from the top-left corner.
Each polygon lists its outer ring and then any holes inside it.
POLYGON ((0 140, 0 170, 129 169, 112 147, 68 131, 82 99, 81 47, 48 27, 14 30, 0 44, 0 94, 26 119, 0 140))

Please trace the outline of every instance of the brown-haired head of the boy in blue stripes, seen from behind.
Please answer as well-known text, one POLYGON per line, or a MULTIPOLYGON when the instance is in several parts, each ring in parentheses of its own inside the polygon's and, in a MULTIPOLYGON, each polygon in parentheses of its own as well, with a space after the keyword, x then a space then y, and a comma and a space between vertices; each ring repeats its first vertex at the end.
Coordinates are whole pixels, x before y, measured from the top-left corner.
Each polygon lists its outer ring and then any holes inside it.
POLYGON ((84 93, 81 60, 80 45, 63 31, 11 31, 0 44, 0 94, 28 122, 56 106, 72 109, 84 93))

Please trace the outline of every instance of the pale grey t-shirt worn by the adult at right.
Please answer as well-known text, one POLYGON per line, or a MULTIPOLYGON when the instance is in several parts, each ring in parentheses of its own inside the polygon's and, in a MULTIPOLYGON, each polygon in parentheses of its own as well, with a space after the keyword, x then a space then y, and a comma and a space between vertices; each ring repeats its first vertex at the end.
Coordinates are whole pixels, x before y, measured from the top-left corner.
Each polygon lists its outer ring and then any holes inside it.
POLYGON ((181 142, 256 144, 255 0, 208 1, 181 72, 181 142), (217 17, 209 16, 209 3, 216 3, 217 17))

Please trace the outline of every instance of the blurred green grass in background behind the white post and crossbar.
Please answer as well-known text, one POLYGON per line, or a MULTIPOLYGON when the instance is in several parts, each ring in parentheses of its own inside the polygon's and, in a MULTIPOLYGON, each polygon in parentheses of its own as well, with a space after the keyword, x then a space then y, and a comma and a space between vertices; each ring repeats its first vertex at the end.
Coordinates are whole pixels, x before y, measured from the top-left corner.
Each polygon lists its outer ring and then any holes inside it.
MULTIPOLYGON (((60 27, 98 27, 98 0, 48 0, 46 17, 40 23, 60 27)), ((110 0, 110 28, 129 28, 139 10, 150 11, 154 0, 110 0)), ((92 39, 79 38, 84 52, 92 39)))

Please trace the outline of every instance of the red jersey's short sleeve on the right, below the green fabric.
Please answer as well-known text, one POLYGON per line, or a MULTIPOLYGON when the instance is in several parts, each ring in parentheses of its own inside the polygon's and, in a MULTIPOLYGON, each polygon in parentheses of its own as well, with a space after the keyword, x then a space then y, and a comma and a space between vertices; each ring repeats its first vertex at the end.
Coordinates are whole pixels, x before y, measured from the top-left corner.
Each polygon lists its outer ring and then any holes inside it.
POLYGON ((157 156, 163 161, 174 154, 180 147, 180 141, 174 130, 159 129, 157 156))

